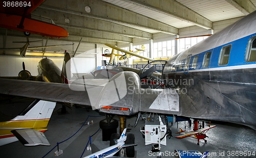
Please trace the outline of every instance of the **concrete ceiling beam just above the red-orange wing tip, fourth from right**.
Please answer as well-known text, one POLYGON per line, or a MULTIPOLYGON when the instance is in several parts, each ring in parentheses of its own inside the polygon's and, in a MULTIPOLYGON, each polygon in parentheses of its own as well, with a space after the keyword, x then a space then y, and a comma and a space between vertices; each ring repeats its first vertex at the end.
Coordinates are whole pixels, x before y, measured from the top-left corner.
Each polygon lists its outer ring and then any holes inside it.
POLYGON ((80 16, 78 14, 70 14, 68 12, 63 14, 63 12, 57 11, 56 8, 54 10, 46 12, 47 9, 48 8, 38 8, 33 12, 33 15, 36 15, 35 17, 51 17, 55 24, 59 25, 60 27, 67 28, 67 31, 69 31, 69 29, 71 28, 93 32, 109 33, 131 38, 153 38, 151 33, 126 27, 124 25, 116 24, 110 21, 102 21, 99 19, 80 16))

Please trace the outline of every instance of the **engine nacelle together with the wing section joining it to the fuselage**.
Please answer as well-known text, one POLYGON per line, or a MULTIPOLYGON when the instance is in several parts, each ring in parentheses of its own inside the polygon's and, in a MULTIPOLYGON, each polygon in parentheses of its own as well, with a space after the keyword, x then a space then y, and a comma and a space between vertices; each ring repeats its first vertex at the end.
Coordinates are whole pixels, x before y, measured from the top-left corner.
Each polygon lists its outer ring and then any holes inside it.
POLYGON ((140 77, 131 71, 119 72, 102 89, 97 107, 113 115, 133 115, 140 111, 180 114, 175 89, 143 89, 140 77))

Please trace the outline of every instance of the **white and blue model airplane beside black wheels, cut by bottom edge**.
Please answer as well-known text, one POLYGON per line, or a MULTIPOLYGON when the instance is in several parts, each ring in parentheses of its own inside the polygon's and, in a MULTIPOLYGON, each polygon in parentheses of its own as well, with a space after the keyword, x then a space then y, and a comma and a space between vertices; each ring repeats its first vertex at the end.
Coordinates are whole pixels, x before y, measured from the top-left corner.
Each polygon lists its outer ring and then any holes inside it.
POLYGON ((122 135, 120 136, 120 138, 115 141, 115 143, 116 143, 115 145, 112 145, 108 148, 97 151, 97 152, 90 154, 83 158, 112 157, 114 154, 116 154, 118 151, 120 151, 124 147, 136 146, 137 144, 125 144, 124 143, 126 141, 125 133, 126 133, 126 128, 123 129, 123 132, 122 132, 122 135))

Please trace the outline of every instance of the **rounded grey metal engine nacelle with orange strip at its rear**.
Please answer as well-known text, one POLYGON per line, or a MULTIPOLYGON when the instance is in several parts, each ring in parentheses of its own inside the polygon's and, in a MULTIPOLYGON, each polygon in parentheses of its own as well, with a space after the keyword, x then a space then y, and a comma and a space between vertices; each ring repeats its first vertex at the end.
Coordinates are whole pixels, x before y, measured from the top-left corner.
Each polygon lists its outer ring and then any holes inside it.
POLYGON ((113 76, 100 93, 99 111, 116 115, 139 112, 141 83, 138 74, 130 71, 113 76))

